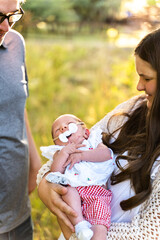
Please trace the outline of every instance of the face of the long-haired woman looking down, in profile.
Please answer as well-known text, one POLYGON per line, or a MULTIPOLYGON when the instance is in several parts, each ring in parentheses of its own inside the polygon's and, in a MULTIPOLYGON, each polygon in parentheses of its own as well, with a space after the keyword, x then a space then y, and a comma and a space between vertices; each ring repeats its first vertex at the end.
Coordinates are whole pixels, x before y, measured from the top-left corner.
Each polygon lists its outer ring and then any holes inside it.
POLYGON ((147 107, 150 109, 157 89, 157 72, 151 64, 138 55, 135 56, 136 71, 139 75, 138 91, 144 91, 147 98, 147 107))

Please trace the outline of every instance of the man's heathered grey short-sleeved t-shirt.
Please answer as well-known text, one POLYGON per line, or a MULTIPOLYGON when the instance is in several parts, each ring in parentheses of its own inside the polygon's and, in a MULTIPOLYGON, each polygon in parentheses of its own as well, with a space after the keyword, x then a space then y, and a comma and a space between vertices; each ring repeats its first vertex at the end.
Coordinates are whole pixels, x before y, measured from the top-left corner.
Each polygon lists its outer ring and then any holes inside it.
POLYGON ((27 84, 24 40, 11 30, 0 47, 0 233, 30 215, 24 121, 27 84))

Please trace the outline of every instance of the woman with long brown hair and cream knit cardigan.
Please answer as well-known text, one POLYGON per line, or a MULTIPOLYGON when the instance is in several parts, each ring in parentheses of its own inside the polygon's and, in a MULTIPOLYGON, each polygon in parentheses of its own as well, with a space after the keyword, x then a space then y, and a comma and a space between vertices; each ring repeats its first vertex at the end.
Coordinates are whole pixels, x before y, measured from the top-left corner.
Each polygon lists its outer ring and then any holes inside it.
MULTIPOLYGON (((94 126, 101 126, 103 142, 117 156, 109 186, 112 224, 107 235, 114 240, 160 239, 160 29, 138 44, 135 65, 137 90, 145 95, 120 104, 94 126)), ((39 178, 47 171, 49 164, 39 178)), ((75 212, 60 197, 66 191, 45 178, 39 185, 41 200, 73 231, 67 215, 75 212)))

